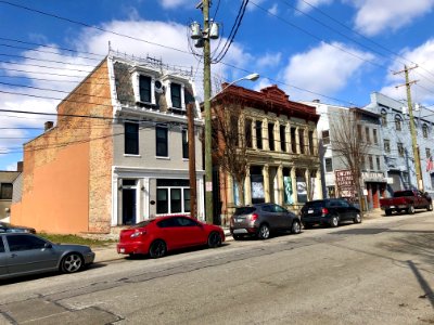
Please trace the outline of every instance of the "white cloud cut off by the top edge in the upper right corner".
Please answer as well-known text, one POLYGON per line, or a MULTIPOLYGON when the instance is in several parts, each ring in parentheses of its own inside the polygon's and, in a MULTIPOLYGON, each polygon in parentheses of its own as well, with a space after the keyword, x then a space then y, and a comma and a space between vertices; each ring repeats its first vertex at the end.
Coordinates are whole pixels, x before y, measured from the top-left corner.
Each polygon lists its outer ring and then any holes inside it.
POLYGON ((414 18, 427 14, 434 6, 434 0, 346 0, 358 9, 355 25, 368 36, 381 31, 396 30, 410 24, 414 18))

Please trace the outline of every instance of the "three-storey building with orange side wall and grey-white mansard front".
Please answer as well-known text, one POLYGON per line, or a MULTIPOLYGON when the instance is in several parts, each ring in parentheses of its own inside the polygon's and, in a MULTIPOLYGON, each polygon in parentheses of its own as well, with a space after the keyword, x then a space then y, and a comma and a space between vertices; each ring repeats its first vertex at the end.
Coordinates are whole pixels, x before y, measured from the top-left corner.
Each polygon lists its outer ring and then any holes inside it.
POLYGON ((186 107, 195 115, 197 217, 204 219, 203 122, 190 70, 111 52, 24 145, 12 221, 52 233, 111 233, 189 213, 186 107))

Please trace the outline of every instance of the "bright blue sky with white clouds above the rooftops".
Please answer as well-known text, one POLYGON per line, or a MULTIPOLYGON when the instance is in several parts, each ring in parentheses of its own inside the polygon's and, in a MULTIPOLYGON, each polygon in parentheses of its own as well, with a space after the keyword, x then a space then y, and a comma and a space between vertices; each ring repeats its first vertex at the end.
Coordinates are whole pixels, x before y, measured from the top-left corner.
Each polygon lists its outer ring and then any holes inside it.
MULTIPOLYGON (((187 27, 202 24, 197 2, 0 1, 0 108, 55 113, 60 99, 107 54, 108 41, 120 52, 192 67, 202 93, 203 65, 189 53, 187 27)), ((222 36, 213 41, 215 53, 241 2, 213 1, 222 36)), ((417 63, 413 101, 432 105, 433 8, 434 0, 252 0, 222 64, 213 66, 213 83, 259 73, 258 81, 241 84, 277 83, 294 101, 363 106, 373 91, 405 99, 404 88, 395 89, 404 77, 393 72, 417 63)), ((49 119, 0 112, 0 170, 15 169, 22 144, 49 119)))

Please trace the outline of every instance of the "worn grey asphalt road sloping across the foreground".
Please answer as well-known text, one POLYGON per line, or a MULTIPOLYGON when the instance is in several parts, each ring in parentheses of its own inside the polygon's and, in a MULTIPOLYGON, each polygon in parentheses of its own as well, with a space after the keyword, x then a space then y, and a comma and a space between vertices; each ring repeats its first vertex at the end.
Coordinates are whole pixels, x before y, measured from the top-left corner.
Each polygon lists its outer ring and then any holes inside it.
POLYGON ((0 324, 434 324, 434 213, 0 284, 0 324))

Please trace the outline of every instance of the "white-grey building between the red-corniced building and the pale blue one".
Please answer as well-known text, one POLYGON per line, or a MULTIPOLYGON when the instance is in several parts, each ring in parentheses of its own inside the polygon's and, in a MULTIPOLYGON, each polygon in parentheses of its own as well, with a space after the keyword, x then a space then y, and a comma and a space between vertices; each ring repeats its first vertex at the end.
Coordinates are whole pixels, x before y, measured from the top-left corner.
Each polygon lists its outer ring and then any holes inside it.
POLYGON ((361 108, 348 108, 344 106, 329 105, 324 103, 306 102, 315 106, 320 115, 318 121, 318 136, 322 172, 324 176, 323 191, 327 197, 345 196, 336 186, 336 171, 347 170, 345 158, 336 152, 336 134, 333 132, 333 123, 342 122, 341 112, 349 112, 358 116, 357 136, 368 143, 367 156, 361 162, 361 185, 368 209, 380 208, 380 198, 386 191, 386 174, 383 156, 383 142, 381 135, 380 115, 361 108))

